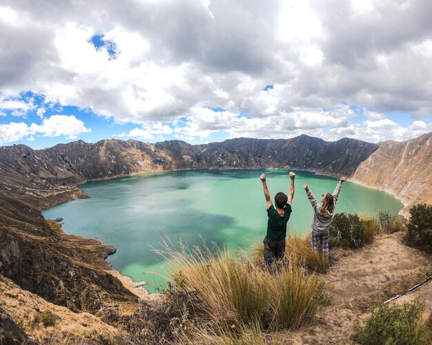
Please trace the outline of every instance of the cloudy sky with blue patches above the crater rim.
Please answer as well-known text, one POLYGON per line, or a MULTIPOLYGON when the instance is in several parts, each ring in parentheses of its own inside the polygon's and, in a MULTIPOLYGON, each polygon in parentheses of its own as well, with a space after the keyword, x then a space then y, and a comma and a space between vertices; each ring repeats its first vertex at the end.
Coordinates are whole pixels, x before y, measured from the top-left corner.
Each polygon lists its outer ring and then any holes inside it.
POLYGON ((432 132, 429 0, 0 0, 0 145, 432 132))

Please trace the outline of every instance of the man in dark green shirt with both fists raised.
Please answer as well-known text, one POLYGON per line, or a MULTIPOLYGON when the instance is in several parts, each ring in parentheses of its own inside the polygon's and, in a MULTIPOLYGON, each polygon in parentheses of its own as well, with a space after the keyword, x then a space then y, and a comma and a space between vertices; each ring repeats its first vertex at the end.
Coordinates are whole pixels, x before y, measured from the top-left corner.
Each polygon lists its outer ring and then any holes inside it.
POLYGON ((267 234, 264 238, 264 260, 270 265, 273 260, 284 258, 285 254, 285 238, 286 238, 286 223, 291 215, 291 204, 294 198, 294 179, 295 174, 291 171, 289 174, 291 185, 289 196, 279 191, 275 195, 275 207, 268 192, 266 175, 259 176, 264 189, 264 196, 267 202, 267 234))

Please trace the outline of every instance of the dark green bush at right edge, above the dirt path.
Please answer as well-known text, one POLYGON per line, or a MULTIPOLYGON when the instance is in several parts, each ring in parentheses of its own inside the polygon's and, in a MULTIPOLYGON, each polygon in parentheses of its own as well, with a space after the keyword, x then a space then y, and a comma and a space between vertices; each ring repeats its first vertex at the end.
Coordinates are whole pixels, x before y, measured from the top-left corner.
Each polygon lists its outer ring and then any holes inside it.
POLYGON ((432 205, 419 204, 409 209, 410 219, 406 223, 408 230, 406 243, 411 246, 424 247, 432 252, 432 205))

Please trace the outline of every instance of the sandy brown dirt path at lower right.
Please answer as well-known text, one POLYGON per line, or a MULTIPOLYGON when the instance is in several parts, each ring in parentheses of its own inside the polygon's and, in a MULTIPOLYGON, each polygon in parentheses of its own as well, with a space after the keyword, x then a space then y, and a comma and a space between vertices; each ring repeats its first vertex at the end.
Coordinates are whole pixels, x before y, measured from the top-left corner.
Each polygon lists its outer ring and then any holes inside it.
MULTIPOLYGON (((333 304, 317 321, 297 332, 279 333, 284 344, 335 344, 369 316, 369 307, 400 294, 432 274, 432 257, 401 242, 402 233, 380 236, 357 251, 337 254, 337 263, 322 276, 333 304)), ((419 297, 424 315, 432 311, 432 282, 392 303, 419 297)))

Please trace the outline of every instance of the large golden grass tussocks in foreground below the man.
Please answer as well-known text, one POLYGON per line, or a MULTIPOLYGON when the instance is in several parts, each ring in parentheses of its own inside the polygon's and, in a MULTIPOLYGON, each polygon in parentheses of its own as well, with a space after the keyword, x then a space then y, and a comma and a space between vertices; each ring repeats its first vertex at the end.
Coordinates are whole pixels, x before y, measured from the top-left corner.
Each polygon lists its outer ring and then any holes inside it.
POLYGON ((161 254, 168 259, 175 293, 188 300, 195 332, 184 336, 192 334, 193 342, 262 344, 264 329, 303 326, 322 306, 322 284, 294 254, 266 269, 227 248, 170 248, 161 254))

